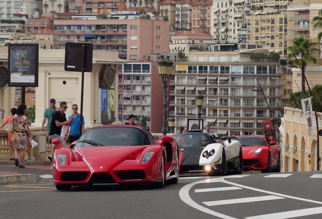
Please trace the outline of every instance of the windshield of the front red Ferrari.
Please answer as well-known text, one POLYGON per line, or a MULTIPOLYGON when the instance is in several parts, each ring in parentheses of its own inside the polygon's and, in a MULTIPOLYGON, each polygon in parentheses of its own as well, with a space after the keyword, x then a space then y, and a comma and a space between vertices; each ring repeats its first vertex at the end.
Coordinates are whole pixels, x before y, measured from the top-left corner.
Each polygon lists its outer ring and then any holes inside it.
POLYGON ((104 126, 87 130, 76 147, 137 146, 153 143, 143 130, 127 126, 104 126))

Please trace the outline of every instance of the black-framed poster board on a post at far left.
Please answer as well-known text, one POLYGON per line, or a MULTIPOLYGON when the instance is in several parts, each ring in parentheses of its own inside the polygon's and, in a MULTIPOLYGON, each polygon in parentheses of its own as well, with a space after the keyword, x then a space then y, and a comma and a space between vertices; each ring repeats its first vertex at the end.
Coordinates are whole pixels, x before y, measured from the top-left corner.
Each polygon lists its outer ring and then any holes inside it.
POLYGON ((38 87, 38 44, 9 44, 8 86, 38 87))

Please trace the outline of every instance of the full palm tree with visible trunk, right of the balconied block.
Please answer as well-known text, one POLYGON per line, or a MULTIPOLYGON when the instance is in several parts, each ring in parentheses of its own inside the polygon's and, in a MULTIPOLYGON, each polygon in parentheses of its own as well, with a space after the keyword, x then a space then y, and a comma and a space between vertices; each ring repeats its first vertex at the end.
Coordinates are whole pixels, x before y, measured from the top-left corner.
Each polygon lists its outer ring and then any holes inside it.
POLYGON ((305 92, 305 68, 308 62, 313 62, 316 64, 316 58, 314 58, 311 54, 313 52, 319 52, 320 50, 314 48, 316 43, 312 43, 309 38, 304 38, 304 36, 297 36, 293 40, 293 45, 288 47, 292 51, 291 54, 287 56, 288 60, 293 60, 292 65, 298 66, 302 70, 301 74, 301 84, 302 84, 302 92, 305 92), (300 55, 301 58, 297 58, 297 55, 300 55))

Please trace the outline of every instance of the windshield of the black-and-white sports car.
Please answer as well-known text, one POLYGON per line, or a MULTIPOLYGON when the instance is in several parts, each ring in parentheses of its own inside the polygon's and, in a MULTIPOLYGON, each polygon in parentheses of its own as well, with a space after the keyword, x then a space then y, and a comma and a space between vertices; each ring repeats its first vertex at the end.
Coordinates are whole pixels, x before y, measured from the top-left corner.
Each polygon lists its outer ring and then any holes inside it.
POLYGON ((177 140, 179 147, 200 147, 213 143, 208 134, 200 132, 178 133, 172 137, 177 140))

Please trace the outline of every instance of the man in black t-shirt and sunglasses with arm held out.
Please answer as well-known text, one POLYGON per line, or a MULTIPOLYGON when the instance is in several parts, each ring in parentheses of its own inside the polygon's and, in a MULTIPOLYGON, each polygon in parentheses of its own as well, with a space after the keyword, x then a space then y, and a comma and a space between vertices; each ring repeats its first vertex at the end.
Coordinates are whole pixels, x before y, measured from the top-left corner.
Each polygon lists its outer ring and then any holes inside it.
MULTIPOLYGON (((68 108, 67 103, 62 101, 59 103, 59 111, 54 112, 52 117, 52 122, 50 124, 49 138, 54 140, 55 138, 59 138, 60 142, 62 142, 62 138, 60 137, 61 129, 63 125, 69 125, 72 122, 72 119, 66 120, 66 109, 68 108)), ((50 161, 53 161, 55 150, 57 149, 57 145, 52 144, 52 154, 48 157, 50 161)))

